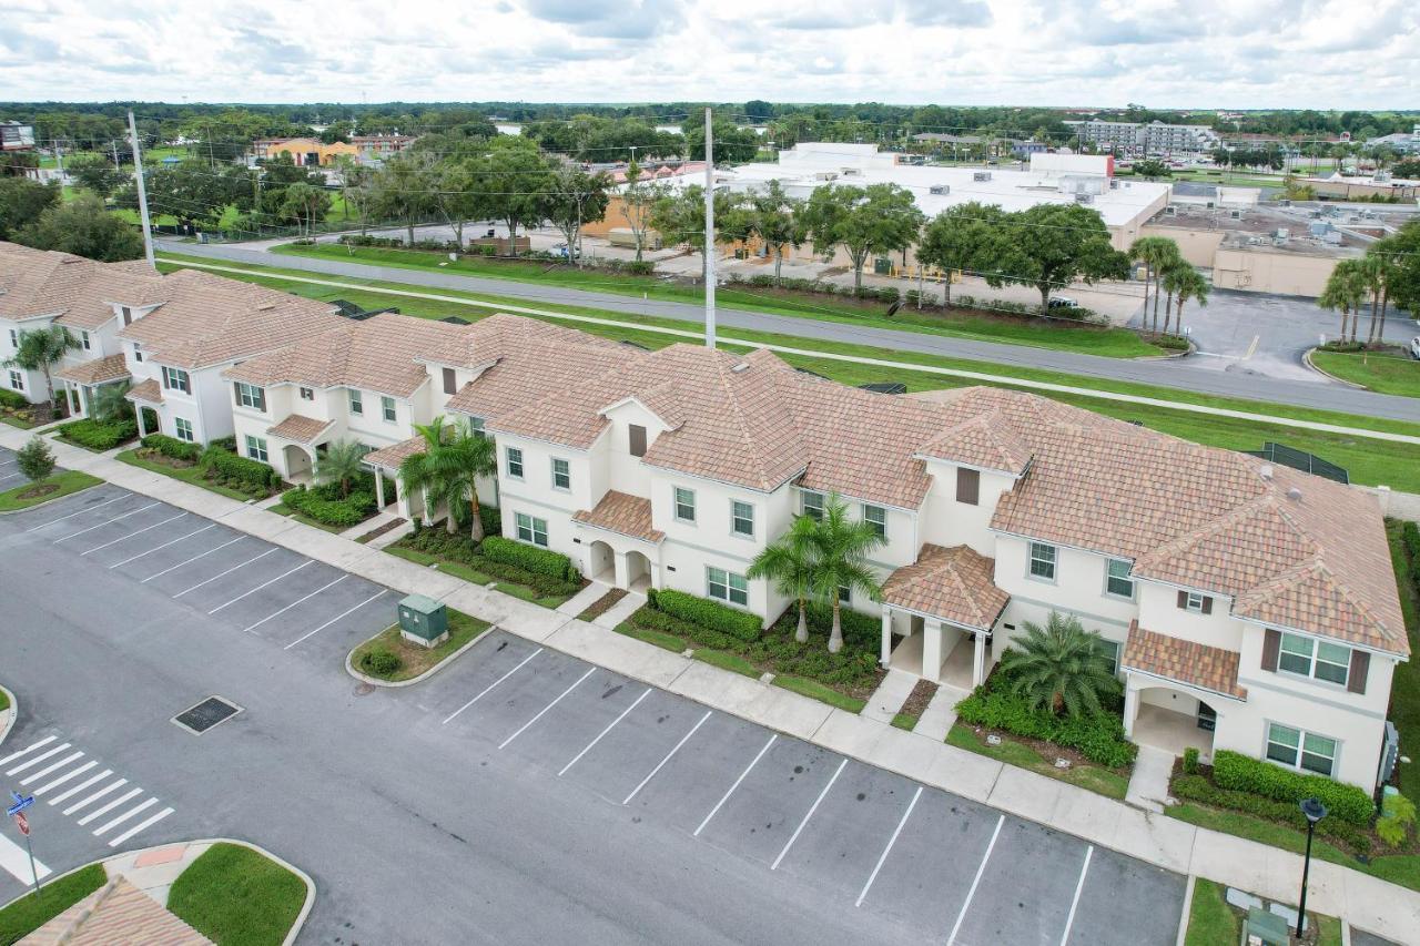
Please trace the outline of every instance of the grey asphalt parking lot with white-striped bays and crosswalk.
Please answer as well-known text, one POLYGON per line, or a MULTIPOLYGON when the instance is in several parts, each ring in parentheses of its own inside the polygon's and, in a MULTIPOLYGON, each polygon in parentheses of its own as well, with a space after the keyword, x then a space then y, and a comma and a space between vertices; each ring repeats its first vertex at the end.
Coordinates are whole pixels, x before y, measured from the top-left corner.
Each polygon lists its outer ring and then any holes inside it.
POLYGON ((248 838, 317 878, 328 943, 1177 933, 1179 875, 497 629, 371 692, 341 663, 393 592, 118 487, 3 517, 0 555, 0 777, 55 872, 248 838), (172 724, 212 695, 241 712, 172 724))

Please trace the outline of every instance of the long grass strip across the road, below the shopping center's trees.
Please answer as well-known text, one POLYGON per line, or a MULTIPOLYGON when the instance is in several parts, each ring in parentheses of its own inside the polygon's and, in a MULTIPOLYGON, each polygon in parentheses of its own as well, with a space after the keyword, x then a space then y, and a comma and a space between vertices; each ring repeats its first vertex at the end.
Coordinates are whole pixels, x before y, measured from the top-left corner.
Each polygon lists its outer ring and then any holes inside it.
MULTIPOLYGON (((517 263, 466 256, 457 263, 450 263, 444 253, 388 247, 348 247, 332 243, 317 246, 288 244, 275 247, 273 251, 287 256, 314 256, 409 270, 437 270, 442 273, 481 276, 515 283, 538 283, 592 293, 643 295, 663 301, 704 301, 704 290, 692 286, 667 284, 655 276, 578 270, 572 266, 559 266, 547 260, 517 263)), ((899 310, 895 317, 888 318, 883 315, 888 307, 882 303, 859 303, 851 298, 811 295, 807 293, 781 293, 761 287, 726 286, 716 291, 716 298, 727 307, 750 308, 777 315, 852 322, 855 325, 869 324, 957 338, 1034 345, 1037 348, 1058 348, 1108 358, 1139 358, 1143 355, 1157 355, 1162 351, 1127 328, 1096 328, 1068 322, 1042 322, 1031 318, 991 318, 968 314, 949 315, 946 312, 917 311, 907 305, 899 310)))

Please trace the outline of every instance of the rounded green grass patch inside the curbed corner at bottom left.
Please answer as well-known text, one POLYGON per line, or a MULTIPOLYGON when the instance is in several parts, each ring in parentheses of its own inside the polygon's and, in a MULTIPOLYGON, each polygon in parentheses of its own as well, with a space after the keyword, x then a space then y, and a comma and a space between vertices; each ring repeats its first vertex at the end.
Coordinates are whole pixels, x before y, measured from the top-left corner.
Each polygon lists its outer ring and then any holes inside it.
POLYGON ((168 909, 220 946, 278 946, 305 905, 305 882, 237 844, 214 844, 173 882, 168 909))

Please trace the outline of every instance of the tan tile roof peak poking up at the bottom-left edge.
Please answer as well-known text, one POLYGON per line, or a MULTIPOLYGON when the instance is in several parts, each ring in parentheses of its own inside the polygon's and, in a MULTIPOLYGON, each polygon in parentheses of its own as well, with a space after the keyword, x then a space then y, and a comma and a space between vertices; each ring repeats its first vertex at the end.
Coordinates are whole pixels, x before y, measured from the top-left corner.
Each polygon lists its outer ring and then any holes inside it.
POLYGON ((20 940, 24 946, 204 946, 212 940, 116 876, 20 940))

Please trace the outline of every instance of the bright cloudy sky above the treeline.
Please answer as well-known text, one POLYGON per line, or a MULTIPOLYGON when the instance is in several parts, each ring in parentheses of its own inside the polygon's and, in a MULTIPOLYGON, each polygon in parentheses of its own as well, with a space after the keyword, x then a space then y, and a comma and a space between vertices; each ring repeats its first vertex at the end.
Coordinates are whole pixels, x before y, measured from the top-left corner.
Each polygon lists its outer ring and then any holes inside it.
POLYGON ((0 0, 0 98, 1416 108, 1407 0, 0 0))

